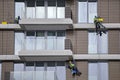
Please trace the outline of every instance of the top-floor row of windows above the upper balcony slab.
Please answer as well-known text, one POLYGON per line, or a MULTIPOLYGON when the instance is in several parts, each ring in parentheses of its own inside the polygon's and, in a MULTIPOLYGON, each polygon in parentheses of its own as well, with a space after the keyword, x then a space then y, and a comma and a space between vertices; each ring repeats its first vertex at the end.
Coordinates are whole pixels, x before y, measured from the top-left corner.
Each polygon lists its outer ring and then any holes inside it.
POLYGON ((15 0, 15 17, 65 18, 65 0, 15 0))

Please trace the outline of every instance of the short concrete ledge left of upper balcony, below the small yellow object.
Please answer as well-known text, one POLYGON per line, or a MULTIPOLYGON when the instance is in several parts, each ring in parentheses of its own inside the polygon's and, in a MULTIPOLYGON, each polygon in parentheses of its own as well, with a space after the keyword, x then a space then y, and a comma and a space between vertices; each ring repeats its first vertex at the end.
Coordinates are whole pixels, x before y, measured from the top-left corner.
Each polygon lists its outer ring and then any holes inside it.
POLYGON ((0 24, 0 29, 21 29, 19 24, 0 24))

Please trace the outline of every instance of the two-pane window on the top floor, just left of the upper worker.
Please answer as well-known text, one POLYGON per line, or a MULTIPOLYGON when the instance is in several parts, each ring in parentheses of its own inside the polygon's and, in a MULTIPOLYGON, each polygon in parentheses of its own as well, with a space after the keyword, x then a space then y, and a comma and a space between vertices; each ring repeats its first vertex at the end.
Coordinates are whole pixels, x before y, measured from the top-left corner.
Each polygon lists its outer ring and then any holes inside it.
POLYGON ((97 16, 97 0, 79 0, 78 22, 93 23, 95 16, 97 16))

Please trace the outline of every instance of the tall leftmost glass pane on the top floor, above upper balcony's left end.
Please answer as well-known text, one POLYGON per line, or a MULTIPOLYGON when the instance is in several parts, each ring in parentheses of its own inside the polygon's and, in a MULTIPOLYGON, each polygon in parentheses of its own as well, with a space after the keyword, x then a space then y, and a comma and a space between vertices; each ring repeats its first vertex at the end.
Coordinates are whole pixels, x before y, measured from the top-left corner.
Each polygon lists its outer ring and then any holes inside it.
POLYGON ((25 18, 25 3, 24 2, 15 2, 15 18, 18 16, 23 19, 25 18))

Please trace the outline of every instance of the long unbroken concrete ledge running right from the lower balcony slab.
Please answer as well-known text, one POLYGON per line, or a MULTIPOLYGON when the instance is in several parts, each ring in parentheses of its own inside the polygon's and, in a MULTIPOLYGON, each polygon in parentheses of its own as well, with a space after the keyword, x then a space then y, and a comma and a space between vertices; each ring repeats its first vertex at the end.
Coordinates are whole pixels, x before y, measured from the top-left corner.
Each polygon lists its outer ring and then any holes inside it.
POLYGON ((75 60, 120 60, 120 54, 75 54, 73 58, 75 60))

